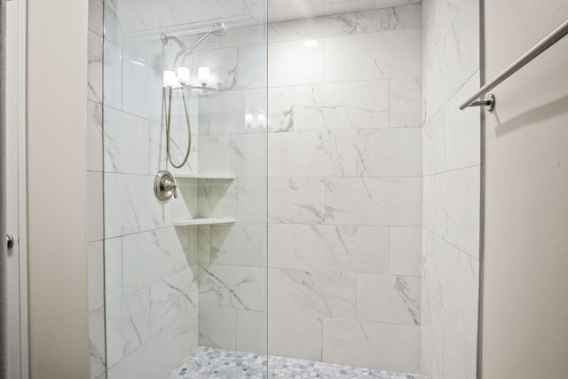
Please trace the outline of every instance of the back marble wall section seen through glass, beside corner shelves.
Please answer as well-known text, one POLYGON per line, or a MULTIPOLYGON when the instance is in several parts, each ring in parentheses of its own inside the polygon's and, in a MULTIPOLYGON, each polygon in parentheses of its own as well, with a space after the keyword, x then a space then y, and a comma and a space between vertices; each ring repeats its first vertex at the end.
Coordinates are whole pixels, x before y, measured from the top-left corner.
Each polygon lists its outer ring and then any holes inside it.
POLYGON ((266 353, 266 28, 230 28, 194 54, 220 91, 199 98, 199 343, 266 353))

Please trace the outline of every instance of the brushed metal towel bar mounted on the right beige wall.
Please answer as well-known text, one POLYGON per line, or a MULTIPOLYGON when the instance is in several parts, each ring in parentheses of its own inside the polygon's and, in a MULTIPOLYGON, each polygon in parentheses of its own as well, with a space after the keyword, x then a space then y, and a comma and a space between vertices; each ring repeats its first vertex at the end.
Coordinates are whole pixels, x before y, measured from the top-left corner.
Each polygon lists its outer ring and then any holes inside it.
POLYGON ((489 94, 487 99, 479 100, 487 92, 493 90, 499 84, 505 81, 510 75, 515 74, 519 69, 524 67, 531 60, 538 57, 543 51, 546 51, 550 46, 560 41, 564 36, 568 34, 568 20, 565 20, 558 28, 554 29, 552 32, 540 40, 539 43, 535 44, 529 51, 521 55, 517 60, 501 71, 501 74, 495 76, 493 80, 486 83, 479 91, 477 91, 473 96, 467 99, 463 104, 461 104, 460 109, 463 110, 467 107, 487 107, 489 112, 493 111, 495 107, 495 97, 489 94))

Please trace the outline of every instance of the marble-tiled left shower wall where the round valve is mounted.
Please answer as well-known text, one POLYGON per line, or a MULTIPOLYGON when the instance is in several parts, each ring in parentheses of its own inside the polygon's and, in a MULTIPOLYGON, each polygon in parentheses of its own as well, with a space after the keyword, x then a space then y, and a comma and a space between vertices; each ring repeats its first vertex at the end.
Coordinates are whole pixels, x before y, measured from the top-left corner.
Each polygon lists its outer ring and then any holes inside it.
MULTIPOLYGON (((90 2, 91 378, 165 376, 198 344, 197 230, 173 226, 176 217, 196 213, 197 191, 184 183, 188 190, 177 201, 154 196, 154 175, 168 168, 159 66, 165 59, 155 59, 164 51, 159 39, 124 36, 130 20, 113 11, 125 4, 90 2)), ((195 110, 197 96, 187 96, 195 110)), ((179 161, 186 131, 174 113, 172 153, 179 161)), ((177 173, 197 170, 197 112, 192 123, 190 161, 177 173)))

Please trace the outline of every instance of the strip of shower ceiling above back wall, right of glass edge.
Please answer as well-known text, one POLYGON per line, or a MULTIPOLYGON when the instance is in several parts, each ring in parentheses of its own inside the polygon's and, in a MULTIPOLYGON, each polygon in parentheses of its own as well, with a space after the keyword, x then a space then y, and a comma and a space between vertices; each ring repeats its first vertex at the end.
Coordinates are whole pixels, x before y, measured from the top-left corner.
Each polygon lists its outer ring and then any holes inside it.
POLYGON ((420 4, 422 0, 268 0, 269 22, 420 4))

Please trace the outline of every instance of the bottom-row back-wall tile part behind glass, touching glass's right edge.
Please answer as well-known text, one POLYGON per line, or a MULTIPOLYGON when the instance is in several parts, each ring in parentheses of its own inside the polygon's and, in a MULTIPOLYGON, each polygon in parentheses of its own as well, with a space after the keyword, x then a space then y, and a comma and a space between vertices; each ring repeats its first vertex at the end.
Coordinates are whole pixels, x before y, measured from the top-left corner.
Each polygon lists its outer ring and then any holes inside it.
POLYGON ((267 313, 237 311, 237 351, 266 354, 267 313))

